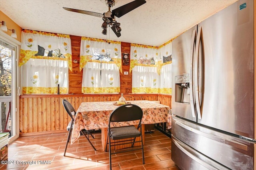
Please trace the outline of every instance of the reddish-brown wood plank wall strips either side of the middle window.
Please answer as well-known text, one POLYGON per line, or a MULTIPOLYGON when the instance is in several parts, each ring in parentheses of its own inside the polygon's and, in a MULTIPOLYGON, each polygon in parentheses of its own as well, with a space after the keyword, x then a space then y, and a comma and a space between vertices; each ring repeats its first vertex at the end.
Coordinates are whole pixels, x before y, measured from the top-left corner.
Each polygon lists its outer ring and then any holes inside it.
MULTIPOLYGON (((83 70, 81 72, 79 70, 81 37, 70 35, 70 39, 72 60, 78 62, 72 62, 72 71, 69 70, 69 94, 82 94, 83 70)), ((122 53, 130 54, 130 43, 121 42, 121 54, 122 53)), ((120 72, 120 93, 132 93, 132 74, 124 75, 124 71, 129 72, 129 69, 130 66, 122 65, 122 73, 120 72)))

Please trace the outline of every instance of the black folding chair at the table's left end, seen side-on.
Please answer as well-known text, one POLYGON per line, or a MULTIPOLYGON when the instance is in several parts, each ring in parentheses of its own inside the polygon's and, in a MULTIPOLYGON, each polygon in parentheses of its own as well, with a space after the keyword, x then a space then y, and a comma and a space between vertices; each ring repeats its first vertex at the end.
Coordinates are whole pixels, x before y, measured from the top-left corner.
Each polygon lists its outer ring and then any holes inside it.
MULTIPOLYGON (((68 126, 67 126, 67 130, 69 132, 68 132, 68 139, 67 139, 66 147, 65 147, 65 151, 64 151, 64 156, 65 156, 66 155, 66 150, 67 150, 67 147, 68 147, 68 143, 70 141, 70 137, 71 137, 71 133, 72 133, 72 129, 73 129, 73 124, 74 124, 74 117, 72 115, 72 112, 74 112, 74 115, 76 115, 76 111, 75 111, 74 107, 70 104, 70 102, 68 102, 68 100, 63 99, 62 104, 63 104, 64 108, 66 109, 68 115, 71 117, 71 121, 68 123, 68 126)), ((94 138, 94 136, 90 133, 90 131, 86 131, 86 129, 82 129, 80 131, 80 133, 82 133, 82 135, 84 135, 86 137, 86 139, 88 140, 90 145, 93 147, 93 149, 96 150, 95 147, 92 145, 91 141, 89 140, 89 134, 92 136, 92 138, 94 138), (88 137, 86 136, 86 133, 87 133, 88 137)))

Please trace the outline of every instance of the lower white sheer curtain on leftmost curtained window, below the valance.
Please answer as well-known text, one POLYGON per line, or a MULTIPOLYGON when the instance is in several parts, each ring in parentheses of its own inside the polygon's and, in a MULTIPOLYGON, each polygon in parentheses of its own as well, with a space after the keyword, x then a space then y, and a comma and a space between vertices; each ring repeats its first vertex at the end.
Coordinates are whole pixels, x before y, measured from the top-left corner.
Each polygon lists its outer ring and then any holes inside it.
MULTIPOLYGON (((30 59, 22 66, 24 94, 55 94, 57 86, 68 87, 65 61, 30 59)), ((66 92, 67 93, 67 92, 66 92)))

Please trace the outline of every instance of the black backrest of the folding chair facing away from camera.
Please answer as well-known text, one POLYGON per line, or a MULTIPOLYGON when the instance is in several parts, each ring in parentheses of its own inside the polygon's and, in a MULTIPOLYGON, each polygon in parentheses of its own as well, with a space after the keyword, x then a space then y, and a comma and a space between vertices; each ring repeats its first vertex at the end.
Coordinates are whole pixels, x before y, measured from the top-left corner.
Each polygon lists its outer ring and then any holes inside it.
MULTIPOLYGON (((124 104, 112 111, 109 117, 110 122, 134 121, 142 119, 143 111, 135 104, 124 104)), ((140 123, 140 122, 139 122, 140 123)))

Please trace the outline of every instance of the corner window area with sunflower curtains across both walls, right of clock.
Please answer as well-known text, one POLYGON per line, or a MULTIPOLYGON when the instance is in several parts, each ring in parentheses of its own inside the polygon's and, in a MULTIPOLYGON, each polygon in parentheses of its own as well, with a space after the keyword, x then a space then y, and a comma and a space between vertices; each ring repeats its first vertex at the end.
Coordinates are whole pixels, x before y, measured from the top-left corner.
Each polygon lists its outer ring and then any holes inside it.
POLYGON ((132 92, 172 93, 172 43, 160 47, 131 44, 132 92))

